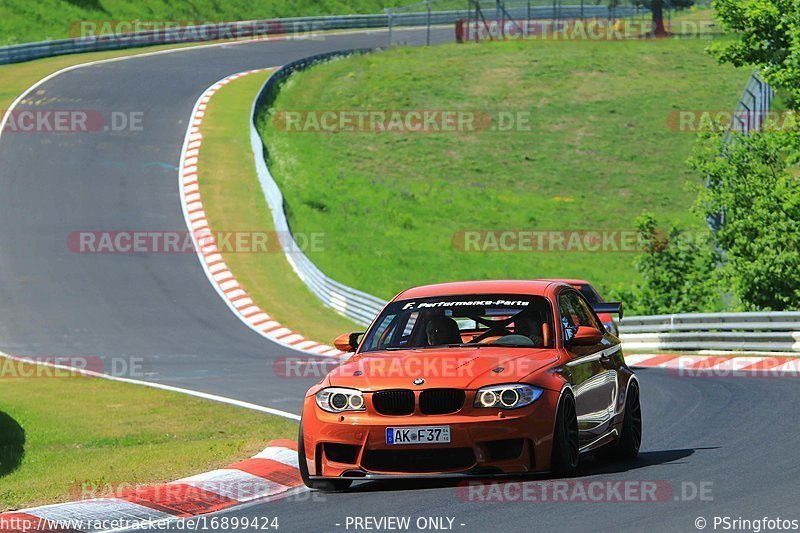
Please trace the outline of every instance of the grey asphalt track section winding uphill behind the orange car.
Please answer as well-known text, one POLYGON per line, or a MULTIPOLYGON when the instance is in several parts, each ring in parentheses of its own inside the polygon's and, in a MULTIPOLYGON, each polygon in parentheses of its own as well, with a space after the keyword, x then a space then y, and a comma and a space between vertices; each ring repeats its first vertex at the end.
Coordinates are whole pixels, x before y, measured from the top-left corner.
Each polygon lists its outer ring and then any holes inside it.
MULTIPOLYGON (((434 38, 452 34, 439 30, 434 38)), ((192 107, 213 83, 387 43, 385 32, 318 39, 88 66, 53 78, 26 99, 18 110, 144 115, 139 132, 3 134, 0 350, 97 356, 121 367, 143 361, 152 381, 299 413, 298 392, 310 383, 270 379, 272 361, 292 352, 241 323, 194 254, 77 254, 67 242, 75 231, 186 231, 177 165, 192 107)), ((425 32, 408 31, 407 39, 422 44, 425 32)))

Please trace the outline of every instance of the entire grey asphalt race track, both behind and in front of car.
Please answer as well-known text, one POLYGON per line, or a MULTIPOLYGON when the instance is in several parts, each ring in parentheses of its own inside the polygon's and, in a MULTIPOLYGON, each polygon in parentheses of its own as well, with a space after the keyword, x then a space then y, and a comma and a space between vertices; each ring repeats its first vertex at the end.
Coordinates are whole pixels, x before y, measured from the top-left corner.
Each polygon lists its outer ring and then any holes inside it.
MULTIPOLYGON (((425 32, 407 37, 421 44, 425 32)), ((436 42, 451 39, 451 30, 434 34, 436 42)), ((143 111, 143 131, 3 135, 0 350, 141 358, 151 381, 298 413, 311 380, 275 376, 272 362, 290 352, 230 312, 195 255, 76 254, 67 239, 74 231, 186 229, 176 165, 192 106, 214 82, 385 43, 385 32, 369 32, 190 49, 89 66, 46 82, 19 109, 143 111)), ((343 531, 348 516, 451 517, 463 531, 697 531, 697 517, 713 530, 714 515, 776 518, 798 509, 794 380, 639 375, 640 459, 589 462, 578 479, 666 483, 674 493, 665 501, 480 503, 464 501, 451 481, 372 482, 220 515, 276 516, 280 530, 290 532, 343 531), (684 486, 689 492, 710 486, 710 494, 676 501, 684 486)))

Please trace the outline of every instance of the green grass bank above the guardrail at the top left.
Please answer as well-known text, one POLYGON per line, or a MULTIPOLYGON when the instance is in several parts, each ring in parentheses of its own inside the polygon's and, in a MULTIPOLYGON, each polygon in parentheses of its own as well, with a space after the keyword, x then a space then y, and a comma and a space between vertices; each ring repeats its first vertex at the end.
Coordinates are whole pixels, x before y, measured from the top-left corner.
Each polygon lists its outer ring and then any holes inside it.
MULTIPOLYGON (((222 22, 276 17, 381 13, 403 0, 4 0, 0 46, 78 37, 80 21, 222 22)), ((112 27, 111 25, 107 27, 112 27)), ((99 33, 104 26, 97 24, 99 33)), ((122 27, 122 26, 121 26, 122 27)), ((124 28, 123 28, 124 31, 124 28)), ((106 32, 107 33, 107 32, 106 32)))

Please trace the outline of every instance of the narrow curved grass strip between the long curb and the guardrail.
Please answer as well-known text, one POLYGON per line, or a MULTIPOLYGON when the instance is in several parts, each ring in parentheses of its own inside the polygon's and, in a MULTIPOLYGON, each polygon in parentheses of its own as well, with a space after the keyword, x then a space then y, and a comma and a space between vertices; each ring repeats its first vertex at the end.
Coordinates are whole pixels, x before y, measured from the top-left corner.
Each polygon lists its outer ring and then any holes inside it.
MULTIPOLYGON (((206 217, 215 232, 269 235, 274 231, 253 162, 249 129, 252 102, 267 76, 252 74, 225 85, 206 109, 198 180, 206 217)), ((253 301, 286 327, 328 344, 341 333, 360 330, 323 306, 282 252, 227 251, 222 256, 253 301)))

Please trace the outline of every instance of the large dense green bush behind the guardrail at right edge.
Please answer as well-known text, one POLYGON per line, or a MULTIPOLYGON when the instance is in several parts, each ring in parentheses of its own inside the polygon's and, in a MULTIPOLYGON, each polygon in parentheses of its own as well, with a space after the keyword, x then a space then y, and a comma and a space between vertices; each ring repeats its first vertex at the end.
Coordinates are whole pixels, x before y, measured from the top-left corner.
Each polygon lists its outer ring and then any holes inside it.
POLYGON ((723 278, 749 311, 800 309, 800 177, 798 129, 703 135, 691 165, 708 186, 697 209, 724 213, 714 233, 723 278))

